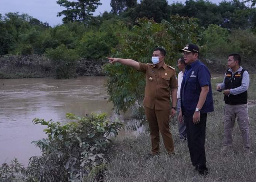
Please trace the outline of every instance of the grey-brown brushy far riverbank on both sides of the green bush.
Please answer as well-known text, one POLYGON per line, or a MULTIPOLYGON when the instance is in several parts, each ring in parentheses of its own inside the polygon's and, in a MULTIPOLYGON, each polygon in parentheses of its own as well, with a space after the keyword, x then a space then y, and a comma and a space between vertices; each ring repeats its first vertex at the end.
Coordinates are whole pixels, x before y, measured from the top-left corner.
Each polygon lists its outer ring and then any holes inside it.
MULTIPOLYGON (((77 76, 104 76, 102 66, 106 60, 80 59, 76 62, 77 76)), ((54 77, 53 63, 44 55, 0 56, 0 79, 54 77)))

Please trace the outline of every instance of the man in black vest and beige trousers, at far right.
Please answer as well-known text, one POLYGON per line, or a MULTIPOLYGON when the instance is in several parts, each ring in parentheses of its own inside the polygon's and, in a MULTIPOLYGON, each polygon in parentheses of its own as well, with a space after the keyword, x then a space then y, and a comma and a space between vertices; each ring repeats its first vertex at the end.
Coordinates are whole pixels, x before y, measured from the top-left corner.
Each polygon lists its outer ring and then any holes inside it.
POLYGON ((232 146, 232 130, 237 118, 244 150, 250 153, 250 136, 249 136, 249 117, 247 108, 247 90, 249 87, 248 71, 241 66, 241 56, 239 54, 230 54, 227 65, 229 70, 226 71, 223 83, 218 84, 217 90, 224 91, 225 113, 224 113, 224 147, 222 152, 232 146))

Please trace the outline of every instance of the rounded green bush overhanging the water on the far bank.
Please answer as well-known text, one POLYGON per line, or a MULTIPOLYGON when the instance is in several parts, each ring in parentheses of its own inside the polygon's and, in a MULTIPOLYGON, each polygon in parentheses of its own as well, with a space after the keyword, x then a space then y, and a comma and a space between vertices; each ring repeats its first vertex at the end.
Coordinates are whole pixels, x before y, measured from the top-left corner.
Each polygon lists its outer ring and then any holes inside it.
POLYGON ((48 49, 46 56, 53 62, 56 78, 76 77, 78 54, 75 50, 68 49, 64 44, 61 44, 56 49, 48 49))

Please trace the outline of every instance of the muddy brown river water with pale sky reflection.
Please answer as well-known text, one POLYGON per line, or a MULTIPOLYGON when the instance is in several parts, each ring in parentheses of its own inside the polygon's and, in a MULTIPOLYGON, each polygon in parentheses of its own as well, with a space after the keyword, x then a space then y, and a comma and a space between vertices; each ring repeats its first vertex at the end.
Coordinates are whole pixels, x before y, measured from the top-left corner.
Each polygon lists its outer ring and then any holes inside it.
POLYGON ((105 80, 102 76, 0 79, 0 165, 14 157, 27 165, 31 156, 40 155, 31 141, 45 138, 44 127, 33 125, 34 118, 67 123, 67 112, 80 116, 91 112, 114 115, 112 104, 107 101, 105 80))

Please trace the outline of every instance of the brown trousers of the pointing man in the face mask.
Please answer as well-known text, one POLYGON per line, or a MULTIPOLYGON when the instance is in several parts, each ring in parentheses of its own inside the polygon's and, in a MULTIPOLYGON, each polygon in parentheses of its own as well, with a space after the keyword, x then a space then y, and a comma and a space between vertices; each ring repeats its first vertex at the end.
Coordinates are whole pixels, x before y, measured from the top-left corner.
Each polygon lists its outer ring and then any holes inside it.
POLYGON ((172 134, 169 128, 169 110, 154 110, 148 107, 144 107, 146 117, 149 123, 152 154, 159 153, 159 131, 163 137, 163 143, 167 153, 174 152, 172 134))

